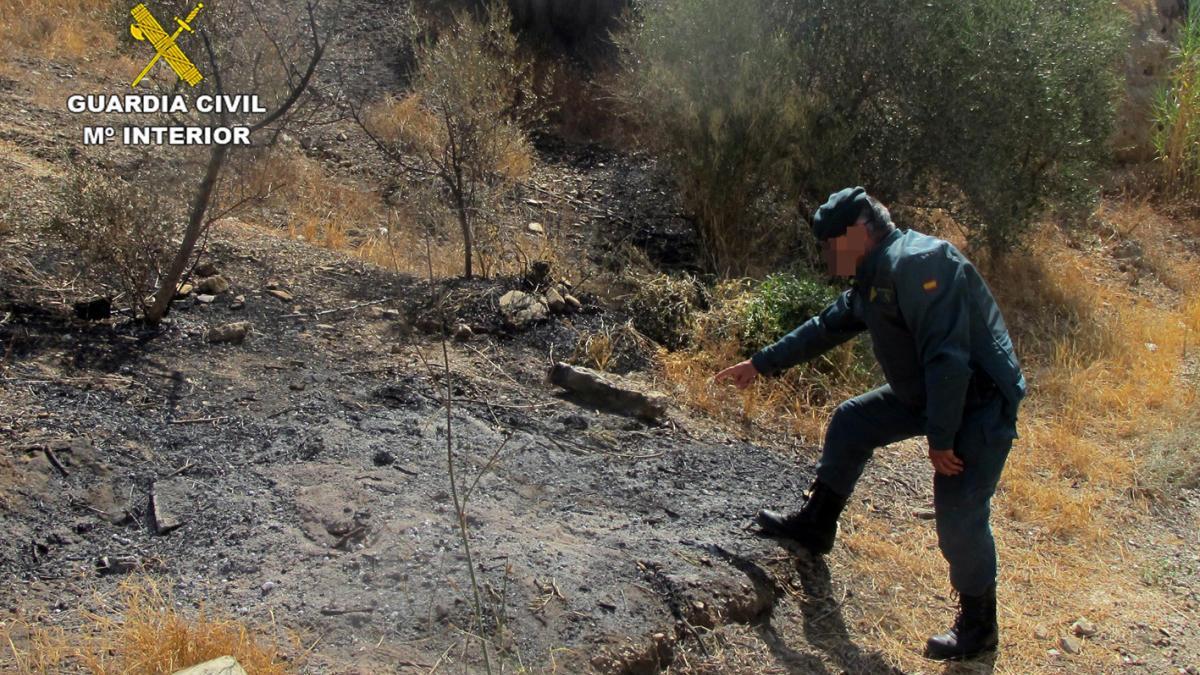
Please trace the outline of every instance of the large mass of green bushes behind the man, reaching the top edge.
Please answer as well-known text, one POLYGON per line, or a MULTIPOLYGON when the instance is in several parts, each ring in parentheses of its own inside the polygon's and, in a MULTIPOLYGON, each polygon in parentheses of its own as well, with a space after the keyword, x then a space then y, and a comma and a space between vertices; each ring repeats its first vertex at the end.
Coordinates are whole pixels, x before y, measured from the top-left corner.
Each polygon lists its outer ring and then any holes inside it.
POLYGON ((850 184, 1000 253, 1094 197, 1127 22, 1109 0, 660 0, 623 91, 715 271, 764 251, 764 197, 850 184))

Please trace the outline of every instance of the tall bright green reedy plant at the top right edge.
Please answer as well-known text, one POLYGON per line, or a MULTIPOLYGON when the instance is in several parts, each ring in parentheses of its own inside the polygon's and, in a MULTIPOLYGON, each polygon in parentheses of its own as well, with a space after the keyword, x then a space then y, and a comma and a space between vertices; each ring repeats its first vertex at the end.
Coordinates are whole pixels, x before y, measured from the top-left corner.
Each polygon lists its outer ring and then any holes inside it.
POLYGON ((1180 30, 1175 66, 1154 101, 1154 151, 1169 187, 1200 190, 1200 4, 1180 30))

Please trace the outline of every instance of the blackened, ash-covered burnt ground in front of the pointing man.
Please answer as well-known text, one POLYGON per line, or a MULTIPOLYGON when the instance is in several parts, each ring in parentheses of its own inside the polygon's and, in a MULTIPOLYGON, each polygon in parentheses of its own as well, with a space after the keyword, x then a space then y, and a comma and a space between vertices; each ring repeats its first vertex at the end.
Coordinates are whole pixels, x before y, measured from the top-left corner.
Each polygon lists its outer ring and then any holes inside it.
MULTIPOLYGON (((179 301, 155 333, 31 301, 36 289, 6 270, 0 574, 12 583, 0 607, 64 621, 128 561, 169 579, 180 602, 274 613, 319 637, 305 671, 427 670, 473 622, 440 342, 410 328, 428 288, 236 222, 215 237, 234 288, 212 305, 179 301), (265 294, 271 282, 295 304, 265 294), (230 309, 234 294, 245 309, 230 309), (233 321, 253 324, 242 345, 208 344, 210 327, 233 321), (154 532, 151 491, 176 530, 154 532)), ((37 255, 35 243, 6 246, 37 255)), ((799 577, 746 525, 810 477, 770 449, 690 429, 679 411, 647 425, 557 396, 547 354, 569 352, 588 321, 450 346, 457 468, 463 484, 482 476, 468 513, 487 629, 511 663, 565 671, 653 671, 727 622, 769 633, 799 577)), ((838 611, 810 604, 791 609, 838 611)), ((880 665, 848 638, 773 645, 785 669, 880 665)))

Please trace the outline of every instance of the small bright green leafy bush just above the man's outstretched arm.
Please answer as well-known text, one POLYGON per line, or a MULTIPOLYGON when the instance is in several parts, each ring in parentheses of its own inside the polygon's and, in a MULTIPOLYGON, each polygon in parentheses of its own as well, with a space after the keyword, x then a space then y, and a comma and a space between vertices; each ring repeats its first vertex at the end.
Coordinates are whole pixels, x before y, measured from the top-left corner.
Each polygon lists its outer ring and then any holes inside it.
POLYGON ((810 277, 772 274, 749 293, 742 306, 742 348, 751 354, 779 340, 836 297, 829 286, 810 277))

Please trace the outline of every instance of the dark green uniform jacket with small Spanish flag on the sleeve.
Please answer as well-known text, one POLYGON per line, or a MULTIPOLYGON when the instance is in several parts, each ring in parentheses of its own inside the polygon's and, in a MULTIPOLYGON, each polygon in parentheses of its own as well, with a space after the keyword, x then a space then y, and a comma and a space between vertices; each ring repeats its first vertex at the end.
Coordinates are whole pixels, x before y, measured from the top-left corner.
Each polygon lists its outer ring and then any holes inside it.
POLYGON ((772 375, 869 330, 893 392, 924 412, 930 447, 954 447, 968 400, 995 387, 1016 436, 1025 376, 979 271, 952 244, 896 229, 858 265, 854 285, 818 316, 752 357, 772 375))

